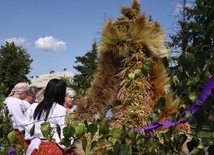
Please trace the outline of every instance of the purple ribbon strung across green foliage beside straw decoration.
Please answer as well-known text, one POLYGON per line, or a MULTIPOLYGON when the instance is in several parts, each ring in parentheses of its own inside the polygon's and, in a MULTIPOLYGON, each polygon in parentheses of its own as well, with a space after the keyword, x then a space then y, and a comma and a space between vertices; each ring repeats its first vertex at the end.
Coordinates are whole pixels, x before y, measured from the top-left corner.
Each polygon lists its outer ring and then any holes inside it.
POLYGON ((214 75, 203 86, 202 91, 199 93, 198 100, 196 102, 194 102, 191 107, 187 108, 181 114, 181 116, 183 116, 189 111, 190 115, 186 119, 176 122, 175 120, 178 120, 178 117, 177 117, 177 118, 174 118, 167 122, 154 122, 149 126, 138 127, 138 128, 135 128, 134 130, 135 131, 144 130, 145 135, 149 136, 153 130, 155 130, 161 126, 171 127, 171 126, 174 126, 177 124, 186 123, 187 121, 189 121, 189 118, 201 107, 201 105, 204 103, 204 101, 207 99, 207 97, 212 93, 213 89, 214 89, 214 75))

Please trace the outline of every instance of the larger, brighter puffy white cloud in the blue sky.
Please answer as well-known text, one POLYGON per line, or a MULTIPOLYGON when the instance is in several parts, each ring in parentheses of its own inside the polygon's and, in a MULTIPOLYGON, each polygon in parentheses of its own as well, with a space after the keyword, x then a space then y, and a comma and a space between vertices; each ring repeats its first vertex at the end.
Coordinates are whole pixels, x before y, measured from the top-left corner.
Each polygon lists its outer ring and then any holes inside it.
POLYGON ((66 49, 66 43, 63 41, 58 41, 52 36, 46 36, 44 38, 39 38, 35 41, 36 48, 47 52, 58 52, 66 49))

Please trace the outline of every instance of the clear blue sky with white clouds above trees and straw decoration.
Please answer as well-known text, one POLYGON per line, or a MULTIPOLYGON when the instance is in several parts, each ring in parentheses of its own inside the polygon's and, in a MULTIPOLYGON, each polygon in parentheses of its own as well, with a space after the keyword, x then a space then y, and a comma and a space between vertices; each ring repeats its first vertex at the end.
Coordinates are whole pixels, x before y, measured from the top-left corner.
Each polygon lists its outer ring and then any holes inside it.
MULTIPOLYGON (((151 15, 168 34, 180 0, 140 0, 141 13, 151 15)), ((132 0, 1 0, 0 45, 14 41, 33 58, 28 76, 73 68, 76 56, 92 49, 105 19, 116 20, 132 0)))

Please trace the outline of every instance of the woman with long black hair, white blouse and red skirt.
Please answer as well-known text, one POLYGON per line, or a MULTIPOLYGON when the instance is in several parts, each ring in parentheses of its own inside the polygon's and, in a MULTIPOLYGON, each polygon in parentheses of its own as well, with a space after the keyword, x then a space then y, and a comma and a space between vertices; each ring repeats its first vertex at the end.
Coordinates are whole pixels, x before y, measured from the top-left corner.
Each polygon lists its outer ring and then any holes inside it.
POLYGON ((25 122, 25 139, 30 139, 31 143, 26 155, 62 155, 64 146, 60 145, 60 137, 56 131, 57 124, 61 128, 61 138, 63 138, 63 128, 65 127, 66 108, 63 107, 66 92, 66 83, 59 79, 51 79, 44 91, 44 98, 40 103, 32 104, 27 112, 25 122), (52 128, 52 140, 45 139, 41 132, 41 124, 50 122, 52 128), (34 134, 30 136, 30 130, 35 125, 34 134))

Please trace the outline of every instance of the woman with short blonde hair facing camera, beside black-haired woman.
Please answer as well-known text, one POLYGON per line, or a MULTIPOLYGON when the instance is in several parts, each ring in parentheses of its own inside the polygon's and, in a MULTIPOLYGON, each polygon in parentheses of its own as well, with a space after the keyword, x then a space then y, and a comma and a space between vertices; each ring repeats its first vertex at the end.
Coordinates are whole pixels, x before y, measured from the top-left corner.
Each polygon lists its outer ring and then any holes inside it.
POLYGON ((68 112, 73 112, 76 109, 76 105, 74 105, 74 98, 76 96, 76 91, 72 88, 66 89, 65 101, 63 106, 68 110, 68 112))

